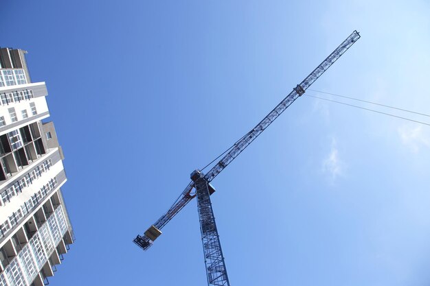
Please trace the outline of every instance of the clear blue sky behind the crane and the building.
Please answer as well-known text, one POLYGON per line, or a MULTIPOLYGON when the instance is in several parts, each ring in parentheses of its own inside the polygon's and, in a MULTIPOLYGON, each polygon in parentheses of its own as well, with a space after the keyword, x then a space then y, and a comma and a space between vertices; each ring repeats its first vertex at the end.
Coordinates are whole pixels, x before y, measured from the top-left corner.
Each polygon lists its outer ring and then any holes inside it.
MULTIPOLYGON (((205 285, 195 202, 148 252, 133 237, 354 29, 362 38, 311 88, 430 113, 427 1, 2 12, 0 45, 26 49, 47 82, 66 157, 76 243, 52 285, 205 285)), ((429 150, 428 126, 299 98, 213 181, 231 284, 429 285, 429 150)))

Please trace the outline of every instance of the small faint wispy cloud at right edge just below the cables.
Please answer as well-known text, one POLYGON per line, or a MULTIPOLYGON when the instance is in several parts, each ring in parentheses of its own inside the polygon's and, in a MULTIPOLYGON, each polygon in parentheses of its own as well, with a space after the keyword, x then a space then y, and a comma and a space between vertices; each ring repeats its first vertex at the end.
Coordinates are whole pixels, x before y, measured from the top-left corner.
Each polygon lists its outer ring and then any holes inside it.
POLYGON ((397 131, 402 143, 412 152, 418 153, 423 147, 430 148, 430 131, 427 128, 401 126, 397 131))

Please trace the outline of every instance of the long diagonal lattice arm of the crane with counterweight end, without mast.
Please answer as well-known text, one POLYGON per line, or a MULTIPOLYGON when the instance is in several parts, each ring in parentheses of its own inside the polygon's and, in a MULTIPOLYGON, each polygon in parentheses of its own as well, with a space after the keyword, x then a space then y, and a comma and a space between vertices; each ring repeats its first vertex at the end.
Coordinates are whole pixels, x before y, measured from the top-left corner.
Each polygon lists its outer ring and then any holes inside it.
MULTIPOLYGON (((284 112, 284 110, 286 110, 286 108, 288 108, 288 106, 290 106, 295 101, 295 99, 302 96, 306 92, 306 89, 311 84, 313 84, 313 82, 315 82, 315 80, 317 80, 333 63, 335 63, 336 60, 343 55, 343 53, 345 53, 352 45, 354 45, 354 43, 359 38, 359 32, 352 32, 352 34, 350 34, 350 36, 348 36, 348 38, 346 38, 346 40, 344 40, 343 43, 341 43, 341 45, 335 49, 335 51, 330 53, 330 55, 323 62, 321 62, 321 64, 319 64, 319 66, 316 67, 312 73, 310 73, 300 84, 297 84, 297 86, 293 88, 293 91, 291 91, 291 93, 289 93, 282 100, 282 102, 278 104, 278 106, 273 108, 273 110, 271 110, 271 112, 269 112, 269 114, 256 125, 256 127, 252 128, 251 131, 249 131, 247 134, 245 134, 245 136, 242 137, 242 139, 240 139, 240 141, 234 144, 231 150, 229 150, 229 152, 227 152, 227 154, 225 154, 225 156, 221 158, 221 160, 219 160, 219 162, 216 163, 216 165, 214 165, 210 171, 207 172, 204 177, 205 180, 207 180, 207 182, 211 182, 216 176, 218 176, 218 174, 220 174, 220 172, 223 171, 223 169, 225 169, 225 167, 227 167, 229 163, 234 160, 234 158, 236 158, 243 150, 245 150, 245 148, 248 147, 248 145, 258 137, 258 135, 260 135, 273 121, 275 121, 275 119, 278 118, 278 116, 280 116, 281 113, 284 112)), ((177 213, 179 213, 179 211, 181 211, 181 209, 195 197, 195 195, 191 194, 193 187, 194 182, 190 182, 190 184, 188 184, 188 186, 181 193, 179 198, 172 204, 169 210, 163 216, 161 216, 154 225, 150 226, 150 228, 146 230, 148 234, 154 235, 155 233, 156 237, 158 237, 157 235, 161 234, 160 229, 170 222, 170 219, 177 215, 177 213)), ((146 250, 152 245, 153 240, 146 235, 137 235, 133 242, 135 242, 137 246, 146 250)))

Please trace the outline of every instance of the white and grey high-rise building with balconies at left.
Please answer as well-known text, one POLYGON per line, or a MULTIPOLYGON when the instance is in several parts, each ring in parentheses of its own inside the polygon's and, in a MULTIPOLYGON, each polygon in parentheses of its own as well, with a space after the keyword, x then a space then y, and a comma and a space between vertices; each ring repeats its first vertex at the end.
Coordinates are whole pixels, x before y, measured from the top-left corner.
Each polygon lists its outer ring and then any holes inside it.
POLYGON ((74 240, 47 88, 25 53, 0 48, 0 286, 47 285, 74 240))

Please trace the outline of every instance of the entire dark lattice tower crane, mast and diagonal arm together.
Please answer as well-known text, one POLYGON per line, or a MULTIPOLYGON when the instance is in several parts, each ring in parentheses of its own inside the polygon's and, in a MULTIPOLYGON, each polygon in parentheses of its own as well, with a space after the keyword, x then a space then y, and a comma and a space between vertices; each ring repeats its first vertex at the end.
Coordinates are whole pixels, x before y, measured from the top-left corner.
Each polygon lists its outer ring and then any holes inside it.
POLYGON ((197 208, 199 210, 199 221, 201 238, 203 242, 203 253, 205 256, 207 285, 216 286, 229 286, 229 278, 227 276, 227 269, 223 251, 221 250, 220 239, 218 230, 216 229, 216 222, 214 211, 210 200, 210 195, 214 193, 215 189, 210 182, 220 174, 225 167, 227 167, 236 158, 240 152, 245 150, 251 142, 258 137, 278 116, 281 115, 288 106, 290 106, 295 99, 302 96, 306 89, 317 80, 343 53, 345 53, 358 39, 360 35, 357 31, 352 32, 346 40, 344 40, 335 51, 330 53, 319 66, 313 70, 300 84, 297 84, 293 91, 289 93, 285 99, 280 102, 269 115, 264 117, 256 127, 252 128, 247 134, 242 136, 229 150, 227 150, 216 165, 210 169, 206 174, 196 169, 191 174, 191 182, 185 190, 179 195, 179 198, 170 206, 168 211, 162 215, 155 224, 150 226, 145 231, 144 235, 137 235, 133 242, 143 250, 147 250, 152 243, 161 235, 161 228, 166 226, 170 219, 172 219, 181 209, 188 204, 193 198, 197 197, 197 208), (195 189, 195 191, 193 191, 195 189))

